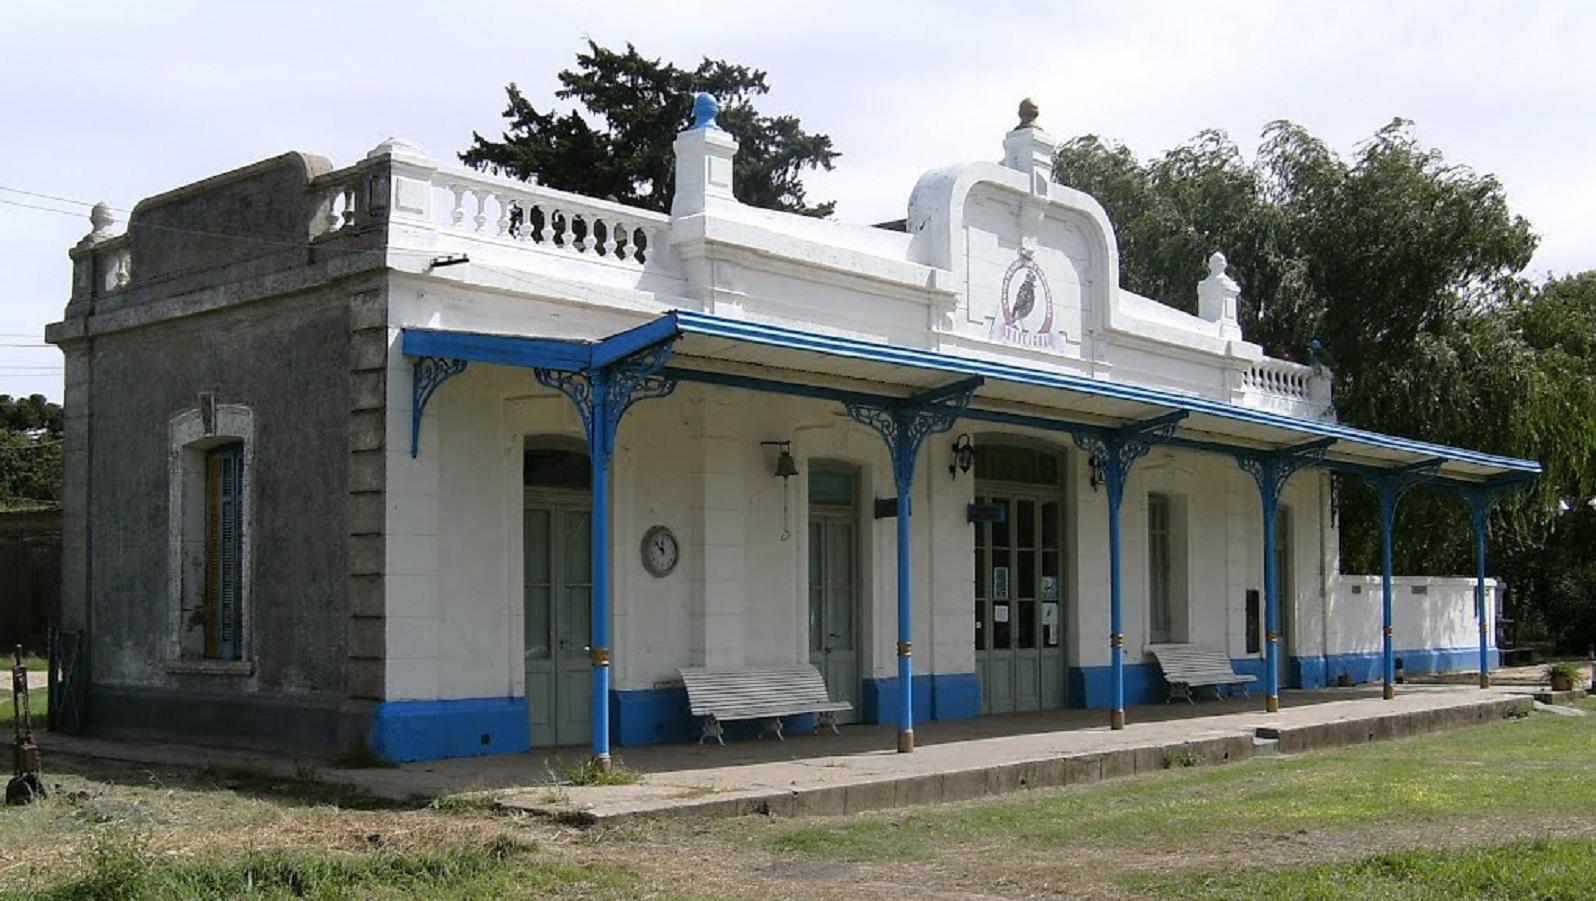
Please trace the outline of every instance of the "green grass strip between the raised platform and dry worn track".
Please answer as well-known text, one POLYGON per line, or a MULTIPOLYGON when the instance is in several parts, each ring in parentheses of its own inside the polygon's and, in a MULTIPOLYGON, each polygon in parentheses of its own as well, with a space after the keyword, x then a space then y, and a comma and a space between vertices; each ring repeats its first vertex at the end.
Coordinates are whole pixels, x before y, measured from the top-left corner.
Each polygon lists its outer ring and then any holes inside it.
POLYGON ((953 847, 1181 848, 1237 834, 1446 824, 1513 812, 1596 815, 1596 718, 1539 714, 1444 735, 1229 767, 1170 770, 1085 791, 855 816, 777 831, 772 850, 852 861, 930 860, 953 847))

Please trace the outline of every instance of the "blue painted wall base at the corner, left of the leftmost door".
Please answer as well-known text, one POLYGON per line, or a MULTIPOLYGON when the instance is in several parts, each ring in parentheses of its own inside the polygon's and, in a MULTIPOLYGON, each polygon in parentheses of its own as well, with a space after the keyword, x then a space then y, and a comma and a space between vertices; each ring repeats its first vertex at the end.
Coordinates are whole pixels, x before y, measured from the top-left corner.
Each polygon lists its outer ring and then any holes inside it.
POLYGON ((530 748, 523 697, 389 700, 372 714, 372 751, 388 761, 525 754, 530 748))

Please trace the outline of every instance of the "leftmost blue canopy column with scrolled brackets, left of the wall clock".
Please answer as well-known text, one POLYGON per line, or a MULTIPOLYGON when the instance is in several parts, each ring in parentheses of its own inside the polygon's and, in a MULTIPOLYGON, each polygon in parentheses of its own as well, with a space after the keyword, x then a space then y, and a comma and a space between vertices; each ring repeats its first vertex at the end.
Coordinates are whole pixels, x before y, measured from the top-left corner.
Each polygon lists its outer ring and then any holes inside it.
POLYGON ((610 558, 610 475, 614 435, 621 416, 646 397, 666 397, 677 383, 659 370, 670 357, 670 343, 645 348, 605 367, 581 372, 535 368, 539 384, 571 399, 587 432, 587 462, 592 467, 592 596, 587 657, 592 662, 592 753, 594 765, 610 772, 610 611, 613 561, 610 558))

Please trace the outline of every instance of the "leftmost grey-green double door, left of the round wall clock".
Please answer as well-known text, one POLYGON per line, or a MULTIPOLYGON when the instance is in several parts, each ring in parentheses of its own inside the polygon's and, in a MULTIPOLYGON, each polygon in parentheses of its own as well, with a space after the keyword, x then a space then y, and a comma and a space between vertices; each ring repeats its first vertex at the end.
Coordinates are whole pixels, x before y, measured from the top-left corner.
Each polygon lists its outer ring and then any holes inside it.
POLYGON ((531 745, 583 745, 592 737, 591 506, 528 498, 522 542, 531 745))

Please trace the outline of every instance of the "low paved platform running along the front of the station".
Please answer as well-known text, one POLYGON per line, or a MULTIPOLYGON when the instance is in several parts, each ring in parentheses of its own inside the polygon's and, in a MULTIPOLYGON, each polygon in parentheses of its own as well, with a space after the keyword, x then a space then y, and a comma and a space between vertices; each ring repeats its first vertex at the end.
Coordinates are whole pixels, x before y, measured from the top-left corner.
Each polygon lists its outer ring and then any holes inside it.
POLYGON ((1285 692, 1282 711, 1259 698, 1132 708, 1130 726, 1109 730, 1106 711, 1068 710, 926 722, 918 750, 897 754, 887 726, 844 726, 841 735, 787 742, 653 745, 619 748, 618 761, 643 778, 635 785, 555 785, 579 762, 579 748, 498 757, 337 769, 282 754, 222 751, 179 743, 113 742, 45 735, 51 754, 78 754, 163 765, 249 767, 358 786, 378 797, 487 793, 506 807, 579 823, 638 815, 790 815, 962 801, 1021 788, 1080 785, 1171 765, 1234 762, 1261 753, 1298 753, 1400 738, 1527 711, 1524 689, 1403 686, 1385 702, 1377 687, 1285 692))

